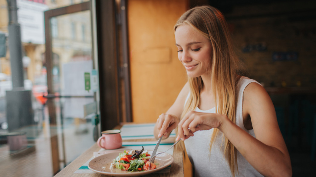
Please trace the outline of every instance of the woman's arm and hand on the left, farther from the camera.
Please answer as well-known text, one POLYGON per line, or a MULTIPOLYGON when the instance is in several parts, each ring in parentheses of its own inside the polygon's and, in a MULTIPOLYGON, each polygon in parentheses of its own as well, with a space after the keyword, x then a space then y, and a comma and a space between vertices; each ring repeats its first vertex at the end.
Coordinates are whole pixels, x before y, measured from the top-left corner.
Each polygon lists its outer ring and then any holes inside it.
POLYGON ((178 127, 179 118, 183 112, 183 107, 185 99, 190 92, 189 83, 186 83, 182 90, 180 91, 177 99, 174 101, 173 105, 164 114, 161 114, 154 128, 155 138, 160 138, 162 135, 168 137, 171 131, 178 127))

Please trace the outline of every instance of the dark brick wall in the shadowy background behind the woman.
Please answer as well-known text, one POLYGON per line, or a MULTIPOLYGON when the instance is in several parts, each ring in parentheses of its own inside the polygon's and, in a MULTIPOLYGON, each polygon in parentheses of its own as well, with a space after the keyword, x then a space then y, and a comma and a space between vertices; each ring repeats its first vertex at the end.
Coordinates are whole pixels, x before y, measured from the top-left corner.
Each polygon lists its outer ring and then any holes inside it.
POLYGON ((315 4, 243 4, 224 12, 248 77, 267 87, 316 86, 315 4))

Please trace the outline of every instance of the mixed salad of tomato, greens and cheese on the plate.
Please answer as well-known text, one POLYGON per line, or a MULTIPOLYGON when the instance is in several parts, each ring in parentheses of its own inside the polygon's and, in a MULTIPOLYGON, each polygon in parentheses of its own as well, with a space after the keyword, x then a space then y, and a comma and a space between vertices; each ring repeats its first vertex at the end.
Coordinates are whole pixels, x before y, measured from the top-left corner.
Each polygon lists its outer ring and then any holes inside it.
POLYGON ((123 171, 145 171, 152 170, 156 168, 155 163, 150 164, 149 168, 149 159, 150 154, 144 151, 144 147, 142 146, 142 150, 136 151, 126 151, 120 152, 119 156, 113 159, 110 168, 118 168, 123 171))

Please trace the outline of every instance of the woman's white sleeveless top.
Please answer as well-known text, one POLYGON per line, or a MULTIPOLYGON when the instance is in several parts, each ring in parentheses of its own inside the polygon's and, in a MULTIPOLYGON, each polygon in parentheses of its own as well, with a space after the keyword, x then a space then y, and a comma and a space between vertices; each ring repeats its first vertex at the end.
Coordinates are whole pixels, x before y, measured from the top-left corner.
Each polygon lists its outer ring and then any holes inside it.
MULTIPOLYGON (((253 129, 247 130, 244 127, 243 116, 242 116, 242 99, 243 92, 249 83, 256 82, 255 80, 249 79, 248 77, 240 77, 237 83, 236 93, 237 106, 236 106, 236 124, 245 130, 247 133, 255 137, 253 129)), ((260 84, 260 83, 259 83, 260 84)), ((190 93, 189 93, 190 94, 190 93)), ((189 95, 186 99, 188 100, 189 95)), ((185 102, 186 102, 185 101, 185 102)), ((196 108, 198 112, 215 113, 215 107, 210 110, 200 110, 196 108)), ((222 132, 219 131, 216 140, 213 143, 212 150, 210 153, 210 141, 213 133, 213 128, 210 130, 201 130, 194 133, 194 136, 184 141, 186 152, 189 159, 194 167, 194 176, 215 176, 215 177, 229 177, 232 176, 229 165, 226 158, 223 155, 224 142, 222 143, 222 132)), ((235 176, 262 176, 257 170, 255 170, 247 160, 237 151, 237 163, 238 173, 235 176)))

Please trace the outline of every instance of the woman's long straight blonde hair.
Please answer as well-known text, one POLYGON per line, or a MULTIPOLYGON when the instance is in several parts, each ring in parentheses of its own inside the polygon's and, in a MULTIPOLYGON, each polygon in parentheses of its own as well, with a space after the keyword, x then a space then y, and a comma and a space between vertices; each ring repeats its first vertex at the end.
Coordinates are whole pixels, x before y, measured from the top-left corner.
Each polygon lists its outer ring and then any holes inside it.
MULTIPOLYGON (((211 81, 216 106, 216 112, 226 115, 233 123, 236 123, 236 83, 238 81, 238 58, 233 51, 230 33, 223 14, 211 6, 200 6, 186 11, 174 26, 174 32, 178 26, 188 24, 193 29, 210 39, 213 52, 211 60, 211 81), (216 96, 217 95, 217 96, 216 96)), ((189 77, 190 97, 185 104, 181 118, 190 110, 195 110, 200 104, 200 93, 203 86, 201 77, 189 77)), ((210 141, 210 151, 216 136, 221 133, 214 129, 210 141)), ((238 172, 237 150, 227 137, 224 140, 224 157, 226 158, 231 173, 235 176, 238 172)))

